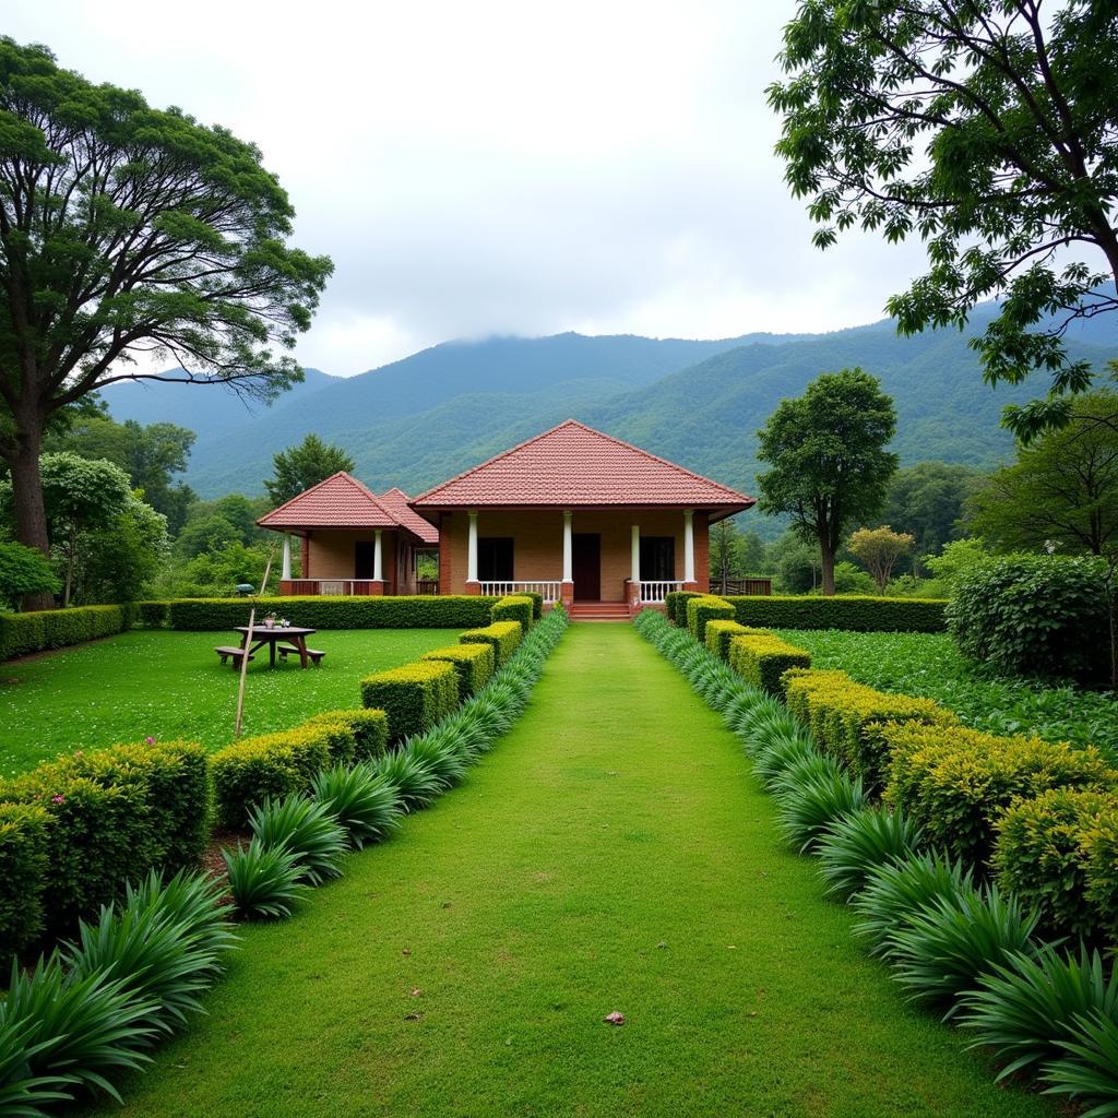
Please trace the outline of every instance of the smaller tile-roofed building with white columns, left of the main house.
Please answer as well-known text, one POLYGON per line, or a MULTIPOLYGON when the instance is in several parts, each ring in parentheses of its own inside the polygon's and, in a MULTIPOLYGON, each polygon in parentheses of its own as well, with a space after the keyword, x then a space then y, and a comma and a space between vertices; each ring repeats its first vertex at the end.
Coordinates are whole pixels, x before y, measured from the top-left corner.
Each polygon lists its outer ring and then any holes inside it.
POLYGON ((340 471, 257 523, 284 533, 281 594, 434 593, 417 578, 424 552, 438 551, 438 529, 402 490, 377 496, 340 471), (302 541, 302 575, 291 577, 291 537, 302 541))

